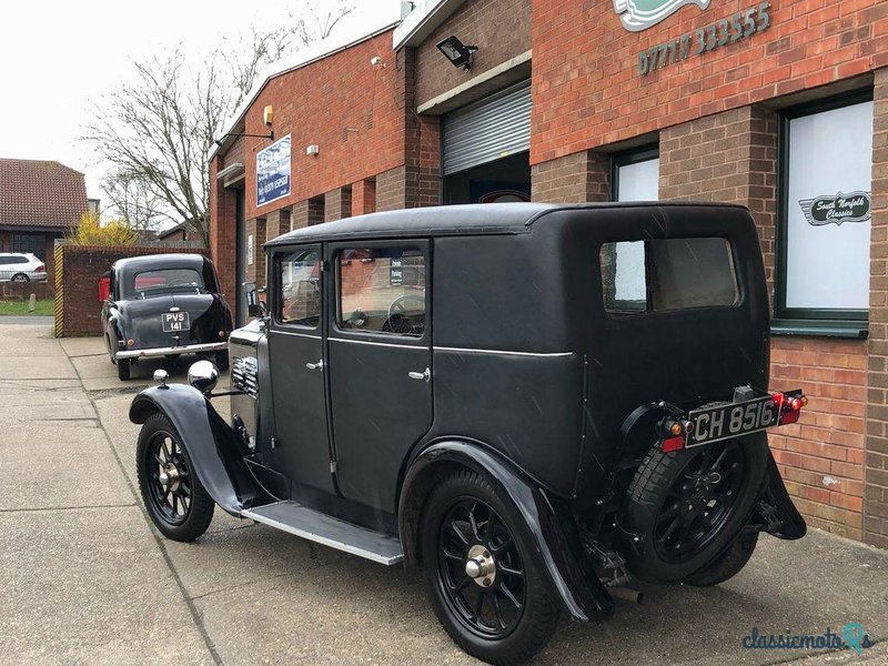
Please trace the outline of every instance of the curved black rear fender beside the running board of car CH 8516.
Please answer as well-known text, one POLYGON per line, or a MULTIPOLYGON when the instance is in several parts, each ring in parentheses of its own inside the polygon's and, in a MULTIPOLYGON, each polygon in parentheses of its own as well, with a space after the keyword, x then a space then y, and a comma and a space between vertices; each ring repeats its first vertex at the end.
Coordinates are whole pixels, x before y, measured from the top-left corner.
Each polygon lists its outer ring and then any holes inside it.
POLYGON ((579 549, 565 533, 546 493, 500 455, 478 444, 438 442, 422 451, 404 476, 398 502, 398 528, 407 563, 418 557, 417 526, 424 497, 435 477, 434 468, 460 466, 483 474, 500 497, 509 502, 523 521, 518 529, 531 544, 537 569, 549 584, 555 599, 574 619, 609 617, 614 601, 594 576, 584 575, 579 549))

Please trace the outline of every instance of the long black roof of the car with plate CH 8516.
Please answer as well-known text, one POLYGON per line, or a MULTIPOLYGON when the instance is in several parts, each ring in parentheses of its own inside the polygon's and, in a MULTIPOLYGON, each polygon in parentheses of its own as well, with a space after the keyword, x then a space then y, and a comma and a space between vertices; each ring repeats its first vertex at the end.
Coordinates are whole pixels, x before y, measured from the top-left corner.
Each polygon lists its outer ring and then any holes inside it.
MULTIPOLYGON (((345 240, 350 238, 407 238, 527 233, 541 218, 555 211, 627 208, 740 208, 712 202, 474 203, 438 205, 370 213, 305 226, 269 241, 266 246, 345 240)), ((745 210, 745 209, 744 209, 745 210)))

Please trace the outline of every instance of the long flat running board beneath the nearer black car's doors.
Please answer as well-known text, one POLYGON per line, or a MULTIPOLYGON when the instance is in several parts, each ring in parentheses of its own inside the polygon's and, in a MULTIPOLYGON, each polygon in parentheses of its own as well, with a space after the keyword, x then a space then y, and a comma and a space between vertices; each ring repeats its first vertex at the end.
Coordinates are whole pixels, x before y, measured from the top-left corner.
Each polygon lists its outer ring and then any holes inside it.
POLYGON ((397 537, 352 525, 297 502, 248 508, 241 512, 241 517, 389 566, 404 559, 397 537))

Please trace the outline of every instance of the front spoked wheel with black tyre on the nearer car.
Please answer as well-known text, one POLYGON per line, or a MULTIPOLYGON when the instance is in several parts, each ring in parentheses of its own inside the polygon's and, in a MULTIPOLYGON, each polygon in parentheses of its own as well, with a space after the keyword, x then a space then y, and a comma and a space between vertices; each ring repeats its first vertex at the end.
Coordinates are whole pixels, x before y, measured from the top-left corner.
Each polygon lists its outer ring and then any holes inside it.
POLYGON ((135 467, 142 502, 161 534, 191 542, 206 532, 215 504, 194 474, 179 433, 163 414, 152 414, 142 425, 135 467), (160 478, 164 472, 168 483, 160 478))

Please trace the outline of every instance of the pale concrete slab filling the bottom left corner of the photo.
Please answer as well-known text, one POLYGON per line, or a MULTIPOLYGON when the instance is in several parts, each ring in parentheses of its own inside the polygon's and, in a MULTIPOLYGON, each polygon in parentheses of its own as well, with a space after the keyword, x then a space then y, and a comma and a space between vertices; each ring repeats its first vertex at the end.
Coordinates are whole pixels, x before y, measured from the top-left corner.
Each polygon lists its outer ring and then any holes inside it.
POLYGON ((138 507, 0 512, 0 664, 213 664, 138 507))

